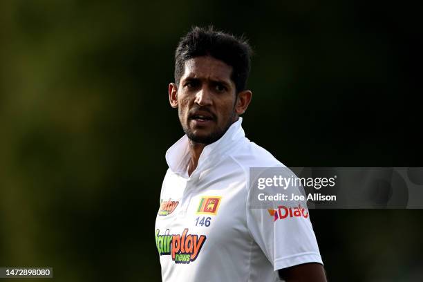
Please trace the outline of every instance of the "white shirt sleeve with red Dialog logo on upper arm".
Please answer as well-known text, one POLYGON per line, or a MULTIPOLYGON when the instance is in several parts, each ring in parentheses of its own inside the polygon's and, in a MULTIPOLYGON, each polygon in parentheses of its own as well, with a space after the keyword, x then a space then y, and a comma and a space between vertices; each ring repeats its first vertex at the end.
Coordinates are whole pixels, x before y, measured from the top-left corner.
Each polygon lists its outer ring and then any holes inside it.
POLYGON ((274 209, 248 204, 247 228, 275 271, 303 263, 323 264, 304 202, 279 203, 274 209))

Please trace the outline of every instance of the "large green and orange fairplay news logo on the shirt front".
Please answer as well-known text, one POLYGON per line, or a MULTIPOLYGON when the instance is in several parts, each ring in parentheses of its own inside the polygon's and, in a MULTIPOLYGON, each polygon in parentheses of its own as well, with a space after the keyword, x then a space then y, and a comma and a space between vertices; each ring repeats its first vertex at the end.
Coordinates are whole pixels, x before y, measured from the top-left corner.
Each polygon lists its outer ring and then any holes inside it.
POLYGON ((195 261, 205 241, 205 235, 188 234, 188 228, 184 229, 182 235, 170 234, 169 229, 160 235, 160 229, 156 230, 156 246, 160 256, 171 255, 175 263, 195 261))

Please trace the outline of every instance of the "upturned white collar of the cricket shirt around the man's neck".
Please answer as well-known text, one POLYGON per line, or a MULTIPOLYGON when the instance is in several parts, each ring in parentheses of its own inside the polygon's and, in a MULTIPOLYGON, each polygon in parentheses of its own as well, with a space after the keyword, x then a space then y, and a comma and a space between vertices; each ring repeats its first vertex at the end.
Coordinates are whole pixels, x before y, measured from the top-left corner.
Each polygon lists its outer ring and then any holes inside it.
MULTIPOLYGON (((216 157, 221 158, 229 152, 229 150, 245 137, 241 123, 243 118, 238 118, 236 122, 229 126, 225 134, 216 142, 208 144, 201 152, 198 159, 197 169, 204 169, 208 164, 212 164, 216 157)), ((181 176, 185 175, 187 164, 191 158, 189 154, 189 139, 187 135, 182 136, 175 144, 173 144, 166 152, 166 162, 169 169, 181 176)))

